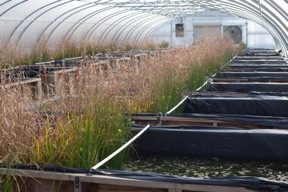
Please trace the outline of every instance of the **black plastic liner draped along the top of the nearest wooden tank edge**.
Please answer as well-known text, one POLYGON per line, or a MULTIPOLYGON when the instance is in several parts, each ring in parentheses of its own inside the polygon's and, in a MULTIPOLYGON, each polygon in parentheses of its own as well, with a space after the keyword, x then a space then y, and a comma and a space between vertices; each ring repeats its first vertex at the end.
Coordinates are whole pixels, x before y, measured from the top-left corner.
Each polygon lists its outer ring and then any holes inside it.
MULTIPOLYGON (((198 185, 214 185, 214 186, 227 186, 227 187, 244 187, 246 189, 256 191, 277 191, 287 192, 287 182, 270 181, 255 177, 218 177, 218 178, 189 178, 189 177, 176 177, 170 175, 160 175, 153 173, 141 173, 141 172, 130 172, 121 170, 107 170, 97 169, 91 171, 87 169, 77 169, 68 167, 57 167, 52 165, 0 165, 1 168, 14 168, 14 169, 26 169, 26 170, 41 170, 41 171, 52 171, 62 173, 82 173, 82 174, 93 174, 93 175, 105 175, 110 177, 137 179, 144 181, 155 181, 155 182, 166 182, 166 183, 178 183, 178 184, 198 184, 198 185)), ((44 172, 42 172, 45 174, 44 172)), ((36 178, 37 179, 37 178, 36 178)))

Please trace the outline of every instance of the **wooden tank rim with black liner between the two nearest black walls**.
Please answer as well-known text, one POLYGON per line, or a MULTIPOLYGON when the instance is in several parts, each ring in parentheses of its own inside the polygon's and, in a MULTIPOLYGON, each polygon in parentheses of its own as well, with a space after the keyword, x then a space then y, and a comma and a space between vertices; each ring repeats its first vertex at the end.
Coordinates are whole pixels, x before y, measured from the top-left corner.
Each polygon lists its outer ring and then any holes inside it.
POLYGON ((171 115, 133 114, 134 124, 157 126, 200 126, 229 127, 243 129, 285 129, 287 117, 267 117, 253 115, 180 113, 171 115))

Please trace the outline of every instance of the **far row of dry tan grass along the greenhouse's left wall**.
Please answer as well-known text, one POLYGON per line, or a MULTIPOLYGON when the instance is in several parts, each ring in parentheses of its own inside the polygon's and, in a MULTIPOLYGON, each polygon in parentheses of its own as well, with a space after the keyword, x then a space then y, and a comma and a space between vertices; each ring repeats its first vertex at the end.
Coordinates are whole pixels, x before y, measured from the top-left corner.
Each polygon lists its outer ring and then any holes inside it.
POLYGON ((0 69, 15 67, 18 64, 34 64, 83 55, 96 55, 98 53, 159 48, 163 48, 163 45, 148 40, 141 46, 133 42, 117 44, 113 42, 100 43, 82 41, 78 43, 71 39, 63 39, 59 43, 51 45, 47 39, 43 37, 32 48, 26 45, 15 45, 13 43, 3 43, 0 45, 0 69))

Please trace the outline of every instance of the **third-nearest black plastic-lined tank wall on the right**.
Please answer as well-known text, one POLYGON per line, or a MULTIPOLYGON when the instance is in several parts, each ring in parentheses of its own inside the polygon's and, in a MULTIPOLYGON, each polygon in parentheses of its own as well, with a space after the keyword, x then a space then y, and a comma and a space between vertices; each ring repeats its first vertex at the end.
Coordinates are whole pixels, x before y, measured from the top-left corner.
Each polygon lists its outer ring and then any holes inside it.
POLYGON ((288 83, 211 82, 208 84, 207 90, 241 93, 248 93, 251 91, 288 93, 288 83))

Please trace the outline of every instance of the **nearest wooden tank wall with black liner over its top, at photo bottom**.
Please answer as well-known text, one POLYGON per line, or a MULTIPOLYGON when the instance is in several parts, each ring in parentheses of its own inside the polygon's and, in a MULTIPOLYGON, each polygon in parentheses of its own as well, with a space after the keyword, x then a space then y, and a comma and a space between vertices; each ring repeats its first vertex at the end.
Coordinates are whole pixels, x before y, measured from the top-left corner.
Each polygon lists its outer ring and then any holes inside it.
POLYGON ((0 173, 12 175, 24 192, 272 192, 288 189, 287 183, 252 177, 204 179, 41 165, 15 165, 9 169, 2 166, 0 173))

